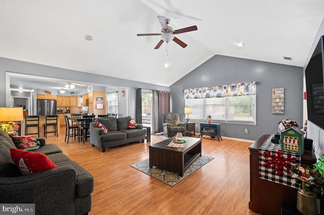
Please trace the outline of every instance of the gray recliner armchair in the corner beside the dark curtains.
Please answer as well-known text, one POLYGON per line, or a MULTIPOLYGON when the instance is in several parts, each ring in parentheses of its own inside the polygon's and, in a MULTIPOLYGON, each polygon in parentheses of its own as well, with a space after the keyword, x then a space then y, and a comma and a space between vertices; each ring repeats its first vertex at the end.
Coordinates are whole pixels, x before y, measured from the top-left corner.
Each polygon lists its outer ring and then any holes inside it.
POLYGON ((186 123, 180 123, 179 115, 176 113, 166 113, 162 115, 164 135, 173 137, 178 132, 186 135, 186 123))

